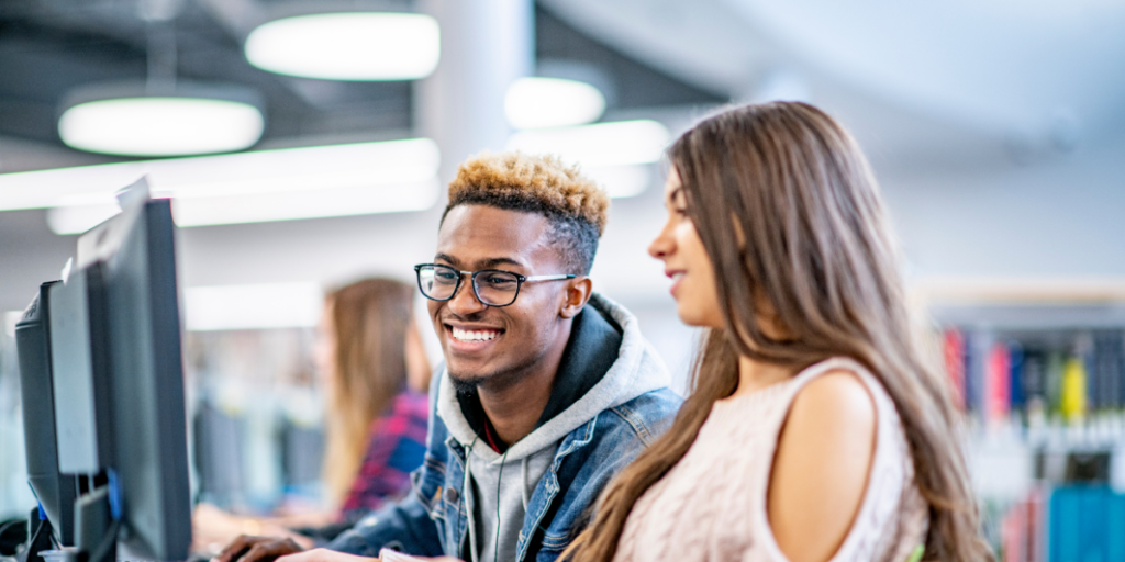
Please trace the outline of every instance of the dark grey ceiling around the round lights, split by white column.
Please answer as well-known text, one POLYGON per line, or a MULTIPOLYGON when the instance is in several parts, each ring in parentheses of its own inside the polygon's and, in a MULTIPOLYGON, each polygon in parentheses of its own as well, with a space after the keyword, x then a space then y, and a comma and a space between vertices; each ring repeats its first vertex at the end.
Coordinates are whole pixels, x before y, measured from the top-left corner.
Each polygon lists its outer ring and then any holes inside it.
MULTIPOLYGON (((381 3, 415 9, 410 1, 381 3)), ((182 81, 225 82, 256 90, 264 98, 267 115, 260 146, 410 134, 411 82, 308 80, 251 66, 241 44, 249 31, 248 21, 260 16, 243 13, 240 19, 233 8, 240 4, 264 11, 271 2, 4 0, 0 3, 0 137, 7 137, 9 149, 0 154, 0 172, 87 163, 88 157, 68 154, 73 151, 58 139, 57 116, 68 92, 97 82, 143 80, 150 64, 171 65, 182 81), (163 6, 174 17, 154 20, 153 6, 163 6), (169 47, 171 37, 174 46, 169 47), (20 146, 25 152, 38 146, 58 157, 18 157, 12 153, 20 146)), ((673 78, 623 55, 548 11, 536 11, 536 29, 541 66, 550 71, 578 63, 593 69, 606 82, 603 88, 611 93, 611 111, 713 105, 728 99, 722 90, 673 78)))

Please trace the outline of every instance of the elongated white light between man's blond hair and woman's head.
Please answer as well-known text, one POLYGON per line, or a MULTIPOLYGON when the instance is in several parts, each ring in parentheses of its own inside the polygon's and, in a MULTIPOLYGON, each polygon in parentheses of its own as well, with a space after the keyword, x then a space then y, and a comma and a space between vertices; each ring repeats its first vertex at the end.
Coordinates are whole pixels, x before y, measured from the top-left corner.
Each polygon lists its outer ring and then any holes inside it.
POLYGON ((532 154, 558 154, 584 169, 648 164, 664 155, 672 135, 652 120, 600 123, 578 127, 521 130, 507 148, 532 154))

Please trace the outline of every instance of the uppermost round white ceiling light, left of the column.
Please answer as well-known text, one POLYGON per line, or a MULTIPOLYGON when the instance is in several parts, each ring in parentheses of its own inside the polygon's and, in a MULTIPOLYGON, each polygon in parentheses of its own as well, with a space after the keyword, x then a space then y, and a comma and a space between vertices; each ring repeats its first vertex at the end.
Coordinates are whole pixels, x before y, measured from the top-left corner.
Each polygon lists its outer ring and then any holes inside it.
POLYGON ((438 66, 438 21, 421 13, 343 12, 277 19, 246 37, 259 69, 325 80, 415 80, 438 66))

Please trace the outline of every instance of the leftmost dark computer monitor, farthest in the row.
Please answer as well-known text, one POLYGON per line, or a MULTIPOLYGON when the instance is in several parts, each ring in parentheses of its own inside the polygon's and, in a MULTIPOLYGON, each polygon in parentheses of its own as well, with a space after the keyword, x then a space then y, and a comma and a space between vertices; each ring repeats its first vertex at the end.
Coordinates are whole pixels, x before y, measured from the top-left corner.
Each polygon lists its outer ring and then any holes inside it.
POLYGON ((55 537, 64 545, 73 545, 75 478, 58 472, 51 375, 50 289, 56 283, 43 283, 39 288, 39 294, 16 325, 16 346, 28 482, 55 529, 55 537))

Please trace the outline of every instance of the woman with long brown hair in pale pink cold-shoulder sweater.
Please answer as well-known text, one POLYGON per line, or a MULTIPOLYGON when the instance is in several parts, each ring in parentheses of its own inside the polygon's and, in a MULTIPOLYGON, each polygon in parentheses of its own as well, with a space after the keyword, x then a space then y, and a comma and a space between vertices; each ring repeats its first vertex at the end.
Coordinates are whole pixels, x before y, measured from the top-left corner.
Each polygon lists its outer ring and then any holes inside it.
POLYGON ((694 390, 564 556, 991 559, 957 415, 850 136, 804 103, 747 106, 669 157, 649 252, 680 318, 709 328, 694 390))

